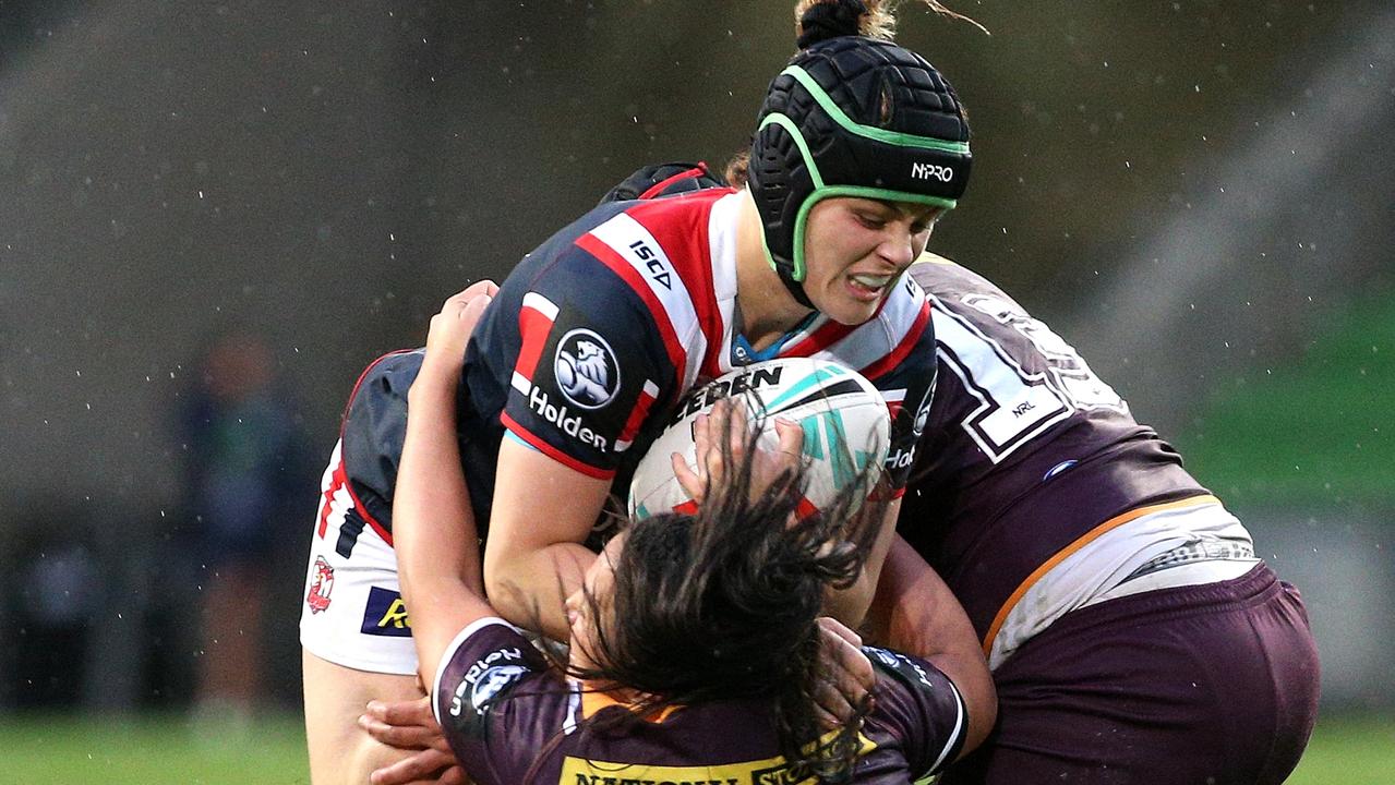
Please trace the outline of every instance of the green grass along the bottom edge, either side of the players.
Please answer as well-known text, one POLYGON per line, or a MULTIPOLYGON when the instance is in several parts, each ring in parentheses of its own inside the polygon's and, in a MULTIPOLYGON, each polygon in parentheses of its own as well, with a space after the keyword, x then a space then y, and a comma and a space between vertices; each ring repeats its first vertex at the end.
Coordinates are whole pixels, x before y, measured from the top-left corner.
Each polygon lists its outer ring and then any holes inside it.
MULTIPOLYGON (((0 718, 4 785, 297 785, 306 784, 299 717, 254 731, 195 733, 183 718, 0 718)), ((1395 784, 1395 718, 1318 724, 1290 785, 1395 784)), ((1025 784, 1030 785, 1030 784, 1025 784)))

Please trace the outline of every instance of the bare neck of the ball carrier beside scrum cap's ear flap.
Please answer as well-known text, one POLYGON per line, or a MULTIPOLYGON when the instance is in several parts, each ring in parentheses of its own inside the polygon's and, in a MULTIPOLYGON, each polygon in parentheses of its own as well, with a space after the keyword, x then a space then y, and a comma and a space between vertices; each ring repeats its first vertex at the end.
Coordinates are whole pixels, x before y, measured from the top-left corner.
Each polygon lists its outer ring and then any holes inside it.
POLYGON ((737 226, 737 304, 741 333, 760 350, 794 329, 813 311, 790 294, 770 266, 762 243, 763 226, 751 191, 742 192, 741 222, 737 226))

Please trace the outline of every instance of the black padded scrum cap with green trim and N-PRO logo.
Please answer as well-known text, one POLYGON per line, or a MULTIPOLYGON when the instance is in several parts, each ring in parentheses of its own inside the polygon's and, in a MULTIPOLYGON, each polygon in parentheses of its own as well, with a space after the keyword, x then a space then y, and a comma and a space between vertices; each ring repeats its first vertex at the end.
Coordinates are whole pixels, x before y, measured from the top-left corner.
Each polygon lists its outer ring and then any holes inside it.
POLYGON ((838 36, 799 52, 770 84, 759 123, 748 181, 766 255, 805 305, 805 220, 820 199, 953 209, 968 185, 968 121, 954 88, 889 40, 838 36))

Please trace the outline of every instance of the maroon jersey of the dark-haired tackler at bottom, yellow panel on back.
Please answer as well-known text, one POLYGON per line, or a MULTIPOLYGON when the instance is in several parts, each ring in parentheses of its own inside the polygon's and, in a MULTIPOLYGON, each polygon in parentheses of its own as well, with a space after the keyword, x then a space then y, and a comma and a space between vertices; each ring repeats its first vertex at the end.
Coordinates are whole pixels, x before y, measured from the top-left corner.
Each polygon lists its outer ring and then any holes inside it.
MULTIPOLYGON (((905 785, 939 771, 967 728, 954 685, 923 660, 865 651, 877 666, 876 707, 854 781, 905 785)), ((586 718, 628 710, 559 678, 499 619, 462 630, 432 696, 451 749, 480 785, 797 785, 762 703, 678 707, 622 732, 591 731, 586 718)))

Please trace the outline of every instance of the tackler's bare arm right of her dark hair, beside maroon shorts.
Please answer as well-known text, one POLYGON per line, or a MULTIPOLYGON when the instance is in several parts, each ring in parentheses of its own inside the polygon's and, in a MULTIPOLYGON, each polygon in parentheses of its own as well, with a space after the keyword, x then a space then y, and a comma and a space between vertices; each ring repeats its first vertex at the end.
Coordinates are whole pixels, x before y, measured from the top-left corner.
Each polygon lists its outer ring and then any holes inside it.
POLYGON ((960 757, 976 747, 997 719, 997 693, 978 634, 940 576, 900 537, 893 538, 876 602, 872 636, 929 660, 964 696, 968 735, 960 757))

